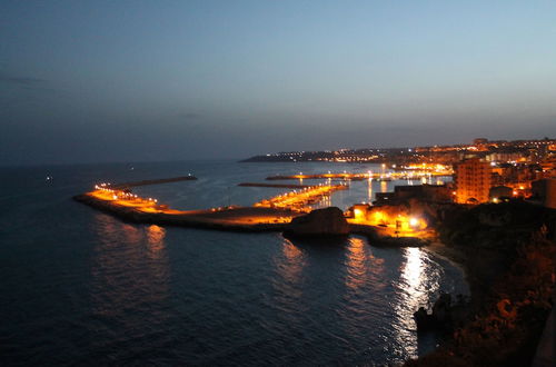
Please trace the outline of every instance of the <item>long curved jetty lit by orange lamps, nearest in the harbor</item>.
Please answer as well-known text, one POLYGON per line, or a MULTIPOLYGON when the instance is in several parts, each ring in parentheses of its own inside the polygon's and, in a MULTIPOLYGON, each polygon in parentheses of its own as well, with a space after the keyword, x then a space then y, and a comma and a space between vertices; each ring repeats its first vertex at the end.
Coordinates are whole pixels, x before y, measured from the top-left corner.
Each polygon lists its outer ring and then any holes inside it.
MULTIPOLYGON (((191 180, 192 178, 189 178, 191 180)), ((159 204, 155 198, 140 197, 129 189, 132 186, 175 182, 181 178, 146 180, 118 185, 100 184, 95 190, 77 195, 76 201, 88 205, 122 220, 140 224, 181 226, 236 231, 285 231, 297 217, 306 216, 321 204, 329 207, 334 191, 348 189, 347 185, 316 185, 299 188, 256 202, 251 207, 228 206, 200 210, 178 210, 159 204)), ((339 210, 339 209, 337 209, 339 210)), ((368 237, 376 244, 388 246, 423 246, 421 240, 404 238, 398 231, 374 226, 361 220, 347 219, 350 234, 368 237)))

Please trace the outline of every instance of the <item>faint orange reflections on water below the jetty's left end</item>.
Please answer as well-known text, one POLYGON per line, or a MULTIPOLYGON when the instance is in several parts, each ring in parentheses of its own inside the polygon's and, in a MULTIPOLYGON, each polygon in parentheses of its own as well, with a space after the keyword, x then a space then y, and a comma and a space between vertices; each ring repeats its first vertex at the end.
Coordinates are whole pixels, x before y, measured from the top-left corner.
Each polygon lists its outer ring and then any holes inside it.
MULTIPOLYGON (((95 219, 99 240, 90 266, 92 313, 121 317, 130 309, 156 308, 163 302, 169 294, 163 228, 122 224, 103 214, 95 219)), ((165 317, 157 313, 153 321, 165 317)))

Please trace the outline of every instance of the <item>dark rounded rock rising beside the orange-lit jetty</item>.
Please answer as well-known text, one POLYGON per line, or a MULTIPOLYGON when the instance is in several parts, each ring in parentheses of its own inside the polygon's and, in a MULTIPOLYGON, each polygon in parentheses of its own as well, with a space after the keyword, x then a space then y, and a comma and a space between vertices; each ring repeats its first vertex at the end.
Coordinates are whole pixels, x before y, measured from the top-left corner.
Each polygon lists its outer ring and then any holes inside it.
POLYGON ((344 212, 337 207, 315 209, 306 216, 297 217, 286 227, 286 237, 347 236, 349 225, 344 212))

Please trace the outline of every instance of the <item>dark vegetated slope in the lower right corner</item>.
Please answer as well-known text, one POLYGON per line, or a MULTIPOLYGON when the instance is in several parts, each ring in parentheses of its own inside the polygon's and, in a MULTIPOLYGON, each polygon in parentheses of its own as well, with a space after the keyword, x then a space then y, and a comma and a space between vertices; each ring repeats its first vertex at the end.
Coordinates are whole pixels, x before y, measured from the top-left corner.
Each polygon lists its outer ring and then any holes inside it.
POLYGON ((453 208, 440 238, 471 287, 469 317, 407 366, 529 366, 553 307, 556 211, 523 201, 453 208))

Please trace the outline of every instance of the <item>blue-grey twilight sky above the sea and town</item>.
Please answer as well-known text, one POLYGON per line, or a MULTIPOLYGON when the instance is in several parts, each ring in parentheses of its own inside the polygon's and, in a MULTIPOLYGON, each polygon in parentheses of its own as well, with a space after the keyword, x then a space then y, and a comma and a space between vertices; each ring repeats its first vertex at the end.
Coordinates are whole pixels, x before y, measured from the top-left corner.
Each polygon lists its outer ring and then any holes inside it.
POLYGON ((0 2, 0 165, 556 137, 556 1, 0 2))

